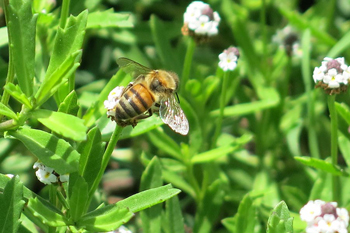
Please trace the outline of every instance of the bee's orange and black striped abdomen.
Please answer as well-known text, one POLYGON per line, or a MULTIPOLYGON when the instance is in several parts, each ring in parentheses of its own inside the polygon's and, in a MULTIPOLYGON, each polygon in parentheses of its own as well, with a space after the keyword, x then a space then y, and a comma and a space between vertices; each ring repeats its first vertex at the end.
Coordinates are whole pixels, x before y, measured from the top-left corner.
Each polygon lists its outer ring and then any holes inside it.
POLYGON ((130 119, 141 115, 152 107, 153 95, 141 83, 132 86, 120 98, 116 108, 116 118, 119 120, 130 119))

